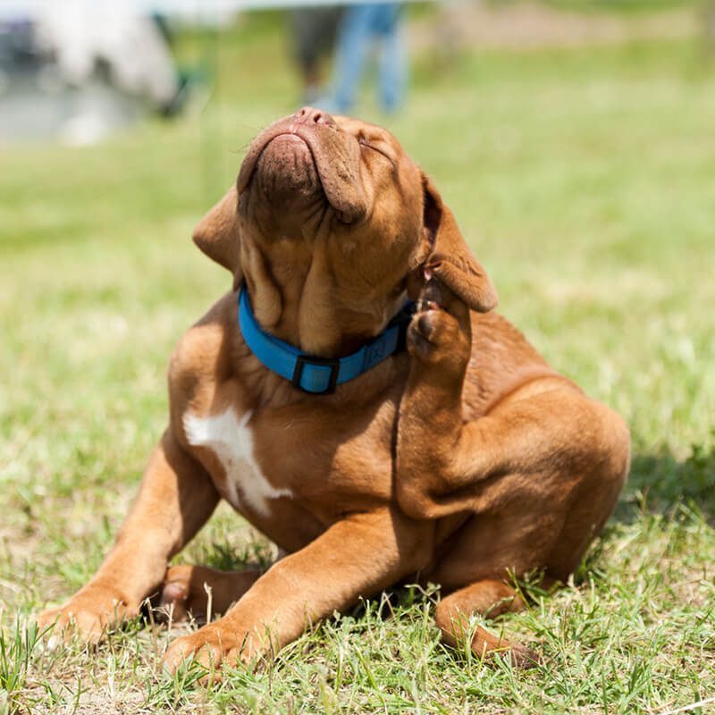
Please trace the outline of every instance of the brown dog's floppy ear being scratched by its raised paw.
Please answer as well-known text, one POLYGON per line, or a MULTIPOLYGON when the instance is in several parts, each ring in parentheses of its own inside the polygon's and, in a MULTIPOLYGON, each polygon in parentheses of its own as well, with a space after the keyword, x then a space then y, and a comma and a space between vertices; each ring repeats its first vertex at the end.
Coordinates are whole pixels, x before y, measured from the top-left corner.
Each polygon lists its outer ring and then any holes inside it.
POLYGON ((454 215, 425 174, 422 187, 423 231, 432 248, 423 264, 425 277, 436 275, 472 310, 479 313, 492 310, 498 302, 492 279, 469 250, 454 215))

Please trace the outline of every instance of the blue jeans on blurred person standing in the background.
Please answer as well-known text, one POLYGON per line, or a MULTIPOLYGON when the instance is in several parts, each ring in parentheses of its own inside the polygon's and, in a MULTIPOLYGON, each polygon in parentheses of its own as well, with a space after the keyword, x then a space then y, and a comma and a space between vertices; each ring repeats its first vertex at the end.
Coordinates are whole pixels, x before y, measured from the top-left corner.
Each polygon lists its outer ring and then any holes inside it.
POLYGON ((399 3, 349 5, 342 17, 335 59, 334 109, 346 112, 355 101, 368 46, 380 45, 379 95, 386 112, 398 108, 407 84, 407 58, 400 38, 399 3))

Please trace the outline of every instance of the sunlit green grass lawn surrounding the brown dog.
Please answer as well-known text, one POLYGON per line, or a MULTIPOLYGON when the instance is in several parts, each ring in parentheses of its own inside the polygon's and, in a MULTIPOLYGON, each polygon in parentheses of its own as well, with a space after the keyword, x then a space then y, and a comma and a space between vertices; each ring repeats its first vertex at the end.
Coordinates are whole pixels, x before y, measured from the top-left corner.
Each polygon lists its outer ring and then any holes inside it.
MULTIPOLYGON (((438 594, 416 589, 209 691, 161 675, 162 628, 33 647, 27 616, 112 543, 164 429, 172 345, 230 287, 192 226, 248 140, 295 108, 272 20, 181 51, 220 64, 200 115, 98 147, 1 150, 0 713, 715 712, 715 68, 684 41, 447 67, 426 54, 407 109, 384 120, 454 209, 501 312, 632 428, 630 482, 574 583, 493 626, 543 665, 450 651, 438 594)), ((272 553, 219 509, 180 559, 272 553)))

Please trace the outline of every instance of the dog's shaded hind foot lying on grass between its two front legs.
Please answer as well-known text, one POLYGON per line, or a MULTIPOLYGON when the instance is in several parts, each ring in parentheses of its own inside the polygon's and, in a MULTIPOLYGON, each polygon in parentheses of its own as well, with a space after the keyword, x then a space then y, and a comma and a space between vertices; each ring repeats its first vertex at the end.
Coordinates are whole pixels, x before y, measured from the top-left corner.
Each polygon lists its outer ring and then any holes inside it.
POLYGON ((210 620, 225 613, 254 585, 263 572, 219 571, 206 566, 182 564, 166 571, 161 590, 159 614, 179 621, 189 614, 210 620))

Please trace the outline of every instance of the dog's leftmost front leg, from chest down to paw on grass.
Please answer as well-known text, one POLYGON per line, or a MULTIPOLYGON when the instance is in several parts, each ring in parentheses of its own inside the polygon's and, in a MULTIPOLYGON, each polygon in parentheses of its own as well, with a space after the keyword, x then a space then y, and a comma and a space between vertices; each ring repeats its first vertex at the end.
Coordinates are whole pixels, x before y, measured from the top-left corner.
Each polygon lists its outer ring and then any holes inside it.
POLYGON ((211 516, 218 493, 198 462, 176 442, 170 430, 156 446, 139 495, 97 574, 61 608, 46 610, 40 628, 55 624, 55 638, 76 630, 97 641, 161 584, 172 555, 211 516))

